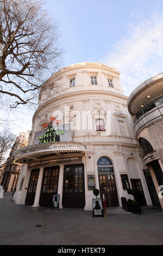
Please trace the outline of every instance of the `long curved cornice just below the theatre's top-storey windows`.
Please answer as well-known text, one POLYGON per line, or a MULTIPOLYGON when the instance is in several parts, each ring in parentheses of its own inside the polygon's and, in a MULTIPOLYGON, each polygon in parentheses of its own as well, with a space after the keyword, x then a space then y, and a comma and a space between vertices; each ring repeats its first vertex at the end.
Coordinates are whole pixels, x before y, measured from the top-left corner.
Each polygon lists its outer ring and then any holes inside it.
POLYGON ((103 96, 104 95, 105 96, 113 96, 113 97, 117 97, 117 98, 122 99, 122 100, 127 100, 128 99, 127 96, 124 96, 122 94, 118 94, 118 93, 115 93, 115 92, 109 92, 109 91, 102 91, 102 90, 97 90, 97 91, 95 91, 95 90, 86 90, 86 91, 66 93, 66 94, 62 94, 58 97, 49 99, 47 102, 40 105, 39 108, 35 111, 32 121, 34 121, 35 116, 37 114, 39 114, 39 112, 41 110, 46 108, 48 105, 51 105, 52 103, 55 103, 55 102, 57 102, 59 100, 62 100, 62 99, 71 98, 73 96, 82 96, 82 95, 88 95, 89 96, 89 94, 98 94, 98 95, 103 95, 103 96))

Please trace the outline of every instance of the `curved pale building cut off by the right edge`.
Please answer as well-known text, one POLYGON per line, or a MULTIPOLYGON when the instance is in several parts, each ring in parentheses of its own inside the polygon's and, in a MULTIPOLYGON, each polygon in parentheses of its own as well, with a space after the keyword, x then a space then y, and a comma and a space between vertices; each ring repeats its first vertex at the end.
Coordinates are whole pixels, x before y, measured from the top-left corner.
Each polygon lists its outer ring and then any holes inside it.
POLYGON ((144 163, 151 172, 163 209, 163 73, 139 85, 130 94, 127 104, 143 149, 144 163))

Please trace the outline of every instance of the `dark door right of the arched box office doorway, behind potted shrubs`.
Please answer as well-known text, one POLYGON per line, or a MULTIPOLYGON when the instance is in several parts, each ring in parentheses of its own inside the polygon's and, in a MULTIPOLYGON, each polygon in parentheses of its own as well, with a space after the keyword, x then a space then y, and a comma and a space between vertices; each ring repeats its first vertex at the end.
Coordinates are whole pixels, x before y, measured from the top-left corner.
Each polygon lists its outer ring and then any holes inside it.
POLYGON ((147 205, 140 179, 131 178, 131 185, 135 191, 135 201, 137 201, 140 205, 147 205))

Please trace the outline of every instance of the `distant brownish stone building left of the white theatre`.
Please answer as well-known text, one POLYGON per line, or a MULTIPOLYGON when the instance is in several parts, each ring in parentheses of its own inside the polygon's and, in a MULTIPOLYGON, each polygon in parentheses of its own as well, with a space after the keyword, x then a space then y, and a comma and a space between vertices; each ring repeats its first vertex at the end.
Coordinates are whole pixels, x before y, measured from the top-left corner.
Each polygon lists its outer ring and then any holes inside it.
POLYGON ((9 157, 7 158, 7 162, 3 168, 3 178, 1 185, 3 186, 4 192, 12 192, 17 186, 21 165, 14 163, 14 156, 12 153, 19 148, 28 145, 28 135, 29 131, 27 131, 26 133, 18 133, 14 145, 11 148, 9 157))

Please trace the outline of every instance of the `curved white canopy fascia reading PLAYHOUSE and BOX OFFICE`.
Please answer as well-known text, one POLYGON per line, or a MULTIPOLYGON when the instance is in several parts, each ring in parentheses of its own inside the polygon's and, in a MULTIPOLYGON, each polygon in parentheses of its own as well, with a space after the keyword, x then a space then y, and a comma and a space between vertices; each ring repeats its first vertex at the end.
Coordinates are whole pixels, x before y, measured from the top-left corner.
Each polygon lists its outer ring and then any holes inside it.
POLYGON ((43 146, 33 146, 17 153, 16 158, 26 154, 49 151, 85 151, 85 147, 80 144, 48 144, 43 146))

